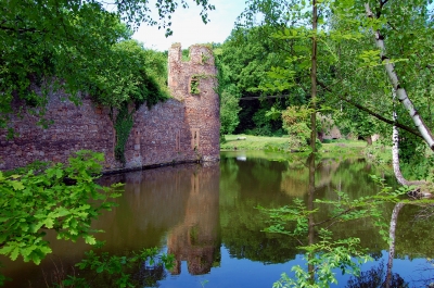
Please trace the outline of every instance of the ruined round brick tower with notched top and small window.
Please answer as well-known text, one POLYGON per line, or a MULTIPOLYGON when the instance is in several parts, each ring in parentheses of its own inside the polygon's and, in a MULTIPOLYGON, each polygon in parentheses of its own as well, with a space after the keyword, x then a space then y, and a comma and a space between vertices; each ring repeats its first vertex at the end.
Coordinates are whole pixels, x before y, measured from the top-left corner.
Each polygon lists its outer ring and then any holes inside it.
POLYGON ((190 47, 190 60, 182 61, 179 43, 169 49, 168 86, 171 95, 184 102, 191 149, 202 161, 219 159, 219 98, 217 70, 209 48, 190 47))

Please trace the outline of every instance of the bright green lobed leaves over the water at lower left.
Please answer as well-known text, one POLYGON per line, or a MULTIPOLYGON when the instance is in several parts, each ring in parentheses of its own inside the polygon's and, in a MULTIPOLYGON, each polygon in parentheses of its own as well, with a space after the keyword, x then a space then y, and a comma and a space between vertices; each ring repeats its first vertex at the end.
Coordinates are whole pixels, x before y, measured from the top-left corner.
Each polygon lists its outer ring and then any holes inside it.
POLYGON ((53 163, 41 171, 31 167, 20 174, 0 172, 0 253, 25 262, 40 261, 51 252, 43 240, 52 229, 58 239, 84 238, 94 243, 91 221, 115 204, 117 185, 102 187, 94 183, 102 171, 102 153, 76 152, 68 164, 53 163))

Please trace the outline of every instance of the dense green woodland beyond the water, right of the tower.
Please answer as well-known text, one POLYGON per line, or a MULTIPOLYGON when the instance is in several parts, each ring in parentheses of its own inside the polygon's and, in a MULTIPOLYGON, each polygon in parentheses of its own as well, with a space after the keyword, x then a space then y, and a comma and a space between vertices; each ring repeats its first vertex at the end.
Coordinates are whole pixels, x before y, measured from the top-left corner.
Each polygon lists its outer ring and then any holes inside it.
POLYGON ((306 146, 315 108, 322 115, 316 120, 319 138, 330 129, 327 116, 344 136, 370 142, 370 136, 379 134, 391 146, 395 123, 403 167, 409 171, 410 165, 413 177, 427 177, 427 141, 394 95, 397 87, 405 88, 411 107, 433 128, 430 1, 369 1, 372 17, 365 3, 319 1, 315 33, 311 3, 247 1, 232 34, 215 49, 221 133, 290 135, 294 146, 306 146), (375 32, 383 50, 375 43, 375 32), (393 63, 398 83, 391 82, 385 61, 393 63))

